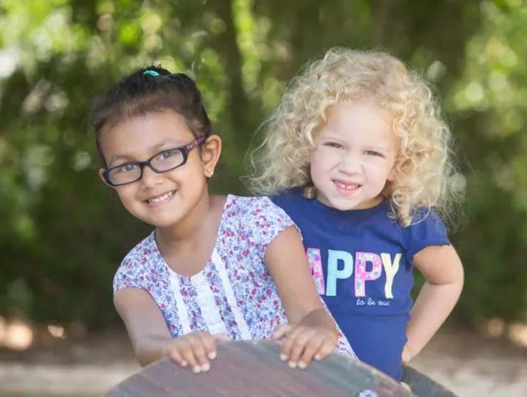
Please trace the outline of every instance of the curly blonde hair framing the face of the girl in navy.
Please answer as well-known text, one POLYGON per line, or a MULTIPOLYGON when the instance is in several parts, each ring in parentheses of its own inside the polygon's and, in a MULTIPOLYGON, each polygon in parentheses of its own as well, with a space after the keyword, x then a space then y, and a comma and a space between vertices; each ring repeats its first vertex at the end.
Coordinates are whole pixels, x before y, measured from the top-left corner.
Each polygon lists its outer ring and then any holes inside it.
POLYGON ((380 51, 332 48, 291 81, 261 126, 263 141, 249 155, 249 189, 276 195, 310 185, 314 133, 326 122, 330 106, 353 100, 370 100, 393 116, 392 130, 400 138, 397 176, 382 192, 392 215, 407 226, 417 210, 435 210, 452 224, 459 189, 450 183, 458 174, 449 127, 424 78, 380 51))

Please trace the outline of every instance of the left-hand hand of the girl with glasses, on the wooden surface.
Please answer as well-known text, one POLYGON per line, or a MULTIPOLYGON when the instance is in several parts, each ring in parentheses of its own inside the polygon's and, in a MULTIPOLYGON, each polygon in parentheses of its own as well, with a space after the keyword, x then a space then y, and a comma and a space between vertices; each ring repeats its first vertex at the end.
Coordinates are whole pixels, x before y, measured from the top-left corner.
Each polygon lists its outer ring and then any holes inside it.
POLYGON ((210 360, 216 359, 216 341, 225 340, 227 336, 224 334, 192 332, 169 341, 166 355, 180 366, 189 366, 194 373, 207 372, 210 369, 210 360))

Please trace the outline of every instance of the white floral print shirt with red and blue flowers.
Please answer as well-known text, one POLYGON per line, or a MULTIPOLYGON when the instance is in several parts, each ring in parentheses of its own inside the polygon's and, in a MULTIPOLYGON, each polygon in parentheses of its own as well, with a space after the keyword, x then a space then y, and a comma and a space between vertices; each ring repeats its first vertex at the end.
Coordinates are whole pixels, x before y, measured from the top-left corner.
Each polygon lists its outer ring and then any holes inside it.
MULTIPOLYGON (((130 287, 147 291, 174 337, 209 331, 229 339, 270 339, 287 319, 264 254, 290 225, 291 218, 268 197, 229 195, 212 255, 200 272, 174 272, 152 232, 123 259, 113 280, 114 294, 130 287)), ((342 335, 337 351, 353 356, 342 335)))

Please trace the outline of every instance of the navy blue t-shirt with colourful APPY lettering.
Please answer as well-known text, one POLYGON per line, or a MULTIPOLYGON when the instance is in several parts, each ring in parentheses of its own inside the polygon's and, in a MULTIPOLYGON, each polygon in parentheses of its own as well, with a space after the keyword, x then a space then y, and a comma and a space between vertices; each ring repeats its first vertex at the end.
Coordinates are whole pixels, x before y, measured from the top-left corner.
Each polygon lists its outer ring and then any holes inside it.
POLYGON ((318 293, 358 358, 400 381, 414 284, 412 258, 450 244, 434 214, 402 227, 387 202, 340 211, 300 188, 271 197, 300 228, 318 293))

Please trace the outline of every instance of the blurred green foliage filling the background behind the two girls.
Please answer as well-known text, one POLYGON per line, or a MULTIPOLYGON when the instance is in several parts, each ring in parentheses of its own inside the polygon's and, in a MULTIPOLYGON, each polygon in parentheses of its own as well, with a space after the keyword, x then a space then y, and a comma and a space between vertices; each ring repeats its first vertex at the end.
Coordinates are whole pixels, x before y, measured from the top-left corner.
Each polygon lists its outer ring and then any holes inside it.
POLYGON ((459 144, 459 321, 527 306, 527 4, 494 1, 0 0, 0 315, 115 320, 111 282, 150 230, 98 179, 93 98, 136 66, 194 77, 239 176, 287 82, 331 46, 382 48, 434 81, 459 144))

